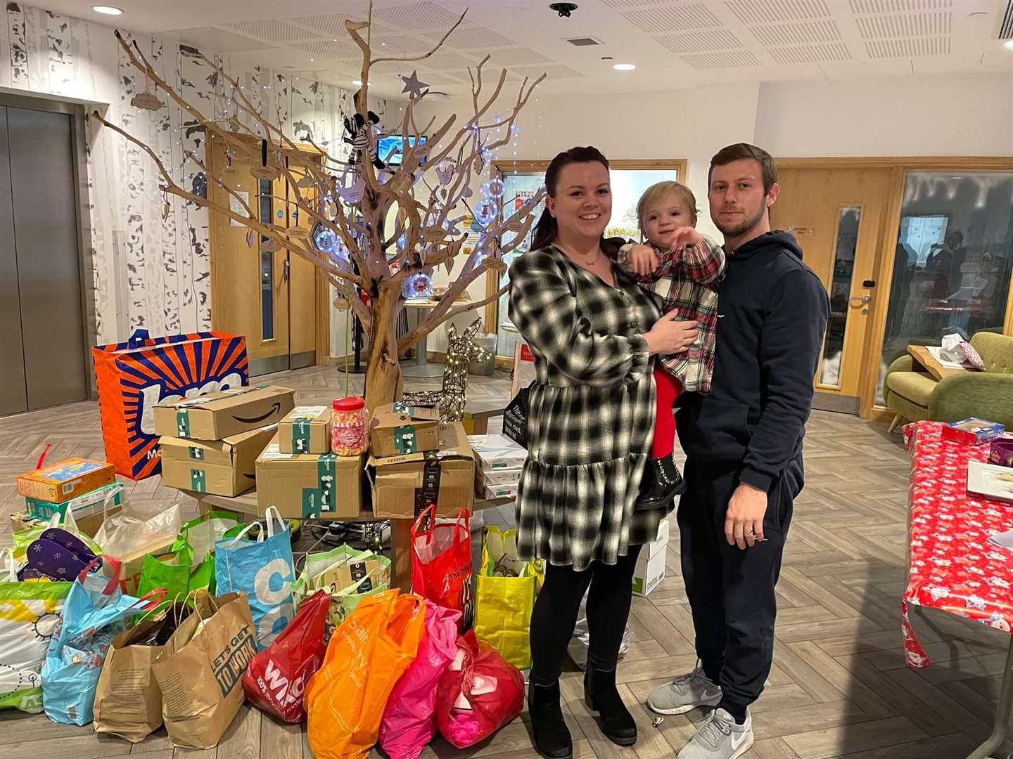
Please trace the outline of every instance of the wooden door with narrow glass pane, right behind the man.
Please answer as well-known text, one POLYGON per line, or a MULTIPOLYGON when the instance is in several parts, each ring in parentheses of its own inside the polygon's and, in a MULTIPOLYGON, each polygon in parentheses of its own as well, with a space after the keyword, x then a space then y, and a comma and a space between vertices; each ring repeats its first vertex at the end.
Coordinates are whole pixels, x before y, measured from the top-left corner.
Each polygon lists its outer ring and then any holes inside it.
POLYGON ((771 224, 794 233, 831 299, 815 408, 865 414, 872 407, 866 374, 878 366, 868 351, 890 177, 889 169, 778 168, 771 224))

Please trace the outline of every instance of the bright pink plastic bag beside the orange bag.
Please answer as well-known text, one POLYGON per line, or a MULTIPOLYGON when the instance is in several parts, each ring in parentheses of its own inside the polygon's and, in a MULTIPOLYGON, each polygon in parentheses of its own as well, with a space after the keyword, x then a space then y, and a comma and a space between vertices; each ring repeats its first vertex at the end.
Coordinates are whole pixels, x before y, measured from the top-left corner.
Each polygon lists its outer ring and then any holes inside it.
POLYGON ((380 724, 380 746, 390 759, 418 759, 437 734, 437 685, 457 656, 460 618, 460 611, 425 602, 425 634, 418 656, 391 691, 380 724))

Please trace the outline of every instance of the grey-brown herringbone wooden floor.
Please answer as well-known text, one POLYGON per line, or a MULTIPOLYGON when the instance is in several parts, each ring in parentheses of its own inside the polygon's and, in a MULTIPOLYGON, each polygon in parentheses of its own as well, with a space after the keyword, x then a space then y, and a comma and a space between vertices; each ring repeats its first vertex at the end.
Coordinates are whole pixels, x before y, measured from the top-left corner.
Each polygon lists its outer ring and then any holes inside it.
MULTIPOLYGON (((329 368, 270 377, 296 388, 299 402, 344 394, 329 368)), ((410 381, 412 388, 434 387, 410 381)), ((356 390, 355 384, 353 390, 356 390)), ((505 374, 471 381, 469 397, 504 399, 505 374)), ((9 542, 7 515, 23 506, 15 476, 34 467, 47 442, 50 460, 101 457, 97 405, 76 404, 0 419, 0 544, 9 542)), ((778 585, 775 664, 754 707, 757 742, 751 759, 959 759, 988 734, 1008 637, 945 614, 915 619, 932 667, 909 669, 902 656, 900 598, 905 587, 908 458, 885 425, 817 412, 805 447, 806 488, 795 506, 778 585)), ((128 483, 135 502, 168 505, 177 493, 158 478, 128 483)), ((508 523, 509 509, 487 514, 508 523)), ((619 749, 599 733, 583 706, 579 674, 564 675, 565 710, 577 757, 674 757, 702 711, 653 726, 641 706, 653 687, 693 668, 690 610, 679 573, 679 532, 672 530, 669 576, 649 598, 636 598, 633 643, 619 681, 634 710, 640 739, 619 749)), ((164 732, 132 746, 98 739, 90 727, 54 725, 44 715, 0 712, 3 759, 90 759, 144 753, 148 759, 188 754, 218 759, 309 759, 299 728, 244 707, 217 752, 173 752, 164 732)), ((535 757, 527 713, 489 742, 458 751, 438 740, 423 757, 535 757)), ((1006 756, 1004 752, 1001 755, 1006 756)))

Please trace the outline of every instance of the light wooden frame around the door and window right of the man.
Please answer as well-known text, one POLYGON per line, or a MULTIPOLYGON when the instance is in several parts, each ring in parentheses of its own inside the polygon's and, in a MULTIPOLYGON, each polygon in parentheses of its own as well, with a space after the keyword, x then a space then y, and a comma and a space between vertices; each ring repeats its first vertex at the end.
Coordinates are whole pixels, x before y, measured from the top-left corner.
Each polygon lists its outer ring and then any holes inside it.
MULTIPOLYGON (((1007 171, 1013 172, 1013 156, 870 156, 837 158, 775 158, 777 167, 784 169, 889 169, 892 172, 886 212, 882 215, 878 235, 874 270, 876 272, 872 318, 865 334, 865 355, 862 357, 859 381, 859 416, 872 421, 889 421, 893 412, 875 405, 879 383, 879 357, 882 355, 886 330, 886 312, 893 280, 893 259, 887 251, 895 251, 901 234, 901 210, 904 186, 910 171, 1007 171), (874 358, 875 360, 870 360, 874 358)), ((1013 269, 1013 267, 1011 267, 1013 269)), ((1013 270, 1010 272, 1013 278, 1013 270)), ((1006 319, 1003 334, 1013 335, 1013 280, 1006 298, 1006 319)))

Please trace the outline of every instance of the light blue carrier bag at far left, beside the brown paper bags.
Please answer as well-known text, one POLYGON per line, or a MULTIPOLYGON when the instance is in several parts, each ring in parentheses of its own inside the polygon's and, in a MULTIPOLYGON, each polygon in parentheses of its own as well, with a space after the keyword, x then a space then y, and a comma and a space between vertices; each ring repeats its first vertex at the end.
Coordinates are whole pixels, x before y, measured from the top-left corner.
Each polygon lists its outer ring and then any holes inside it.
MULTIPOLYGON (((111 557, 101 561, 113 578, 120 577, 120 562, 111 557)), ((116 579, 90 572, 98 562, 88 565, 71 586, 43 663, 43 708, 53 722, 64 725, 92 722, 98 675, 109 643, 127 629, 127 617, 148 606, 147 597, 124 595, 116 579)), ((149 594, 157 595, 165 592, 149 594)))

